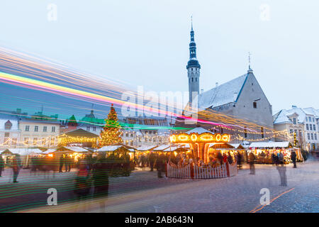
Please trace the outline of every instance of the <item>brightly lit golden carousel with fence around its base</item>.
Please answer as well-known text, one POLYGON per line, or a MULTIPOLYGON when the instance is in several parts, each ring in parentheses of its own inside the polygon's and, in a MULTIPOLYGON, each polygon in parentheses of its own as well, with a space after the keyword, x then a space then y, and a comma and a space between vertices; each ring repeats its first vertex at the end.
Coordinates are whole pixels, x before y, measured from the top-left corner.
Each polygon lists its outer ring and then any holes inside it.
MULTIPOLYGON (((186 156, 179 157, 179 164, 167 163, 167 177, 177 178, 221 178, 237 175, 237 163, 228 162, 228 154, 220 158, 218 162, 213 162, 213 154, 217 149, 230 149, 233 146, 227 143, 230 135, 212 133, 204 128, 197 127, 186 133, 176 133, 169 137, 171 143, 175 146, 188 144, 191 150, 189 161, 185 161, 186 156)), ((221 155, 221 150, 217 152, 221 155)), ((218 155, 216 155, 218 156, 218 155)), ((219 156, 218 156, 219 157, 219 156)))

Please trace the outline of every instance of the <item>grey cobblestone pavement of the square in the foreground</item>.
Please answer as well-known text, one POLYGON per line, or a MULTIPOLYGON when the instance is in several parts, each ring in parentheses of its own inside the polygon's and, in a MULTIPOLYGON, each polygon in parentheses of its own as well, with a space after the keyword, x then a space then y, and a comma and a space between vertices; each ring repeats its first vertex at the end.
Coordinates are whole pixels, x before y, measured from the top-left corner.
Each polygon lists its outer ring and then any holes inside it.
MULTIPOLYGON (((149 176, 150 172, 144 172, 149 176)), ((319 212, 319 162, 286 165, 287 186, 280 186, 272 165, 247 166, 223 179, 157 179, 152 189, 111 194, 106 199, 46 206, 41 212, 319 212), (163 183, 165 182, 165 183, 163 183), (269 189, 269 206, 261 206, 260 190, 269 189)), ((152 176, 154 177, 154 175, 152 176)), ((133 178, 135 178, 133 176, 133 178)), ((132 179, 133 179, 132 178, 132 179)), ((140 182, 142 184, 142 182, 140 182)), ((128 183, 128 187, 130 183, 128 183)))

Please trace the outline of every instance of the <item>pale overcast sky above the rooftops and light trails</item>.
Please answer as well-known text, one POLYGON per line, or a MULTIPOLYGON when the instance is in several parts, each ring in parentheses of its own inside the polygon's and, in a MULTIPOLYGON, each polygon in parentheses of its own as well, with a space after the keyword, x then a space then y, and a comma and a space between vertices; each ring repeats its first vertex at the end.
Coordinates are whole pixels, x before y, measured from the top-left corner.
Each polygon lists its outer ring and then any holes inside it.
POLYGON ((319 109, 318 9, 315 0, 1 1, 0 45, 133 87, 186 92, 193 15, 200 87, 245 74, 250 51, 275 114, 319 109), (47 18, 49 4, 57 21, 47 18))

